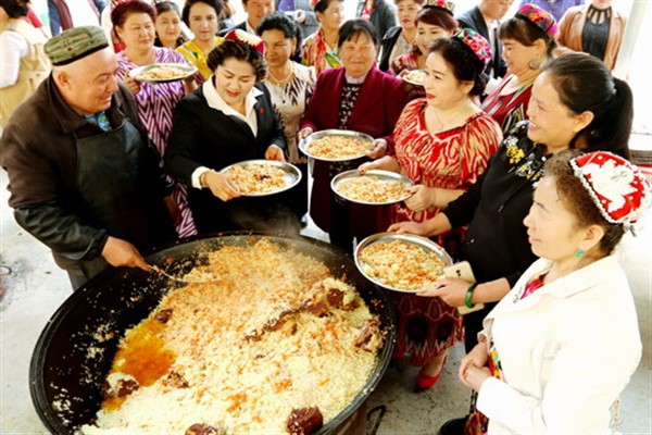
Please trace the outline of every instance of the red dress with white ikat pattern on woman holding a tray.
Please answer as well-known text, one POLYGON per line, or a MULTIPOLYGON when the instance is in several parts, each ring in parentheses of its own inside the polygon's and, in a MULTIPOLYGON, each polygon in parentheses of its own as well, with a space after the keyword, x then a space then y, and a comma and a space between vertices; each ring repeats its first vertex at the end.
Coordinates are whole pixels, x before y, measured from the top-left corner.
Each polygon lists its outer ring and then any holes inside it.
MULTIPOLYGON (((465 189, 487 167, 501 140, 500 126, 489 115, 478 112, 465 124, 430 134, 426 128, 425 99, 411 101, 394 128, 394 149, 390 150, 405 176, 415 184, 446 189, 465 189)), ((396 206, 394 221, 424 222, 439 213, 429 208, 414 212, 403 203, 396 206)), ((451 233, 463 236, 463 229, 451 233)), ((446 246, 451 234, 437 240, 446 246)), ((451 250, 451 246, 446 246, 451 250)), ((424 298, 392 293, 399 326, 397 353, 411 353, 414 365, 424 365, 439 352, 464 338, 462 318, 456 308, 440 298, 424 298)))

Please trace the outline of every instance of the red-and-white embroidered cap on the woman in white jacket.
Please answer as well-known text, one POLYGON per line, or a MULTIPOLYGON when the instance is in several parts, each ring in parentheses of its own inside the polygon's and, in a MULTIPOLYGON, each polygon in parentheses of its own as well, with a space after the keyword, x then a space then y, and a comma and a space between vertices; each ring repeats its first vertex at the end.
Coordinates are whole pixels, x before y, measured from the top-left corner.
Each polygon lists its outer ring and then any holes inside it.
POLYGON ((622 157, 595 151, 579 156, 569 164, 607 222, 631 227, 650 208, 650 182, 622 157))

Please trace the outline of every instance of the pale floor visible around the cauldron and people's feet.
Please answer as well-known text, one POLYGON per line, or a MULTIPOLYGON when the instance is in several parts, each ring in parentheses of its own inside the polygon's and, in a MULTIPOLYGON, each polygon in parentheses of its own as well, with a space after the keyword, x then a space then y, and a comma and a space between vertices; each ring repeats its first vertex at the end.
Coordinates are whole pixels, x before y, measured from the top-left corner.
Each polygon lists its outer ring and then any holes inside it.
MULTIPOLYGON (((0 306, 0 433, 47 434, 29 398, 28 365, 41 330, 71 289, 48 249, 15 224, 5 185, 7 174, 0 170, 0 265, 12 271, 0 276, 8 290, 0 306)), ((619 430, 626 434, 652 434, 652 219, 648 221, 645 231, 636 239, 627 237, 619 252, 634 288, 643 340, 641 364, 622 396, 619 430)), ((304 233, 324 237, 312 225, 304 233)), ((367 434, 436 434, 441 423, 461 417, 469 394, 456 377, 462 356, 460 344, 437 385, 422 394, 412 393, 416 369, 408 360, 390 366, 368 400, 367 434)))

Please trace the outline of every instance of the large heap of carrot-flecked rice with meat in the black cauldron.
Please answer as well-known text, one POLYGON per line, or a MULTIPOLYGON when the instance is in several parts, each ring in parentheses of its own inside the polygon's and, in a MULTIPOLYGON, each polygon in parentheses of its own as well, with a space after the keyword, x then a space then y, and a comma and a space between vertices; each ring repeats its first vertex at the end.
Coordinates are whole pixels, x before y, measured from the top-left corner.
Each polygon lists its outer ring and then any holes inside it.
POLYGON ((216 283, 172 290, 126 333, 108 381, 139 386, 104 400, 84 434, 288 433, 292 410, 327 423, 364 387, 384 337, 354 287, 268 240, 209 260, 187 277, 216 283))

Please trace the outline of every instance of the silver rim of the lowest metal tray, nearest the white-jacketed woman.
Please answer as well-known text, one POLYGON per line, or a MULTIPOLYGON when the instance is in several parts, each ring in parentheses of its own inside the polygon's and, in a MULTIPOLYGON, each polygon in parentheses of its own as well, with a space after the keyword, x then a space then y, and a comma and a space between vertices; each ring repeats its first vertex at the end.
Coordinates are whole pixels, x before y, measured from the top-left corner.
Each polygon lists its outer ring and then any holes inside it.
POLYGON ((355 247, 355 251, 353 252, 353 259, 355 260, 355 266, 358 268, 360 273, 362 273, 365 278, 367 278, 375 285, 383 287, 383 288, 387 288, 388 290, 392 290, 392 291, 418 294, 418 293, 423 293, 423 291, 434 290, 435 288, 424 288, 424 289, 419 289, 419 290, 409 290, 409 289, 403 289, 403 288, 396 288, 396 287, 388 286, 387 284, 383 284, 381 282, 377 281, 375 277, 372 277, 366 274, 366 272, 364 270, 365 263, 362 260, 360 260, 360 253, 365 248, 367 248, 372 245, 375 245, 378 243, 387 244, 387 243, 391 243, 394 240, 401 240, 401 241, 404 241, 410 245, 416 245, 416 246, 421 247, 422 249, 424 249, 426 252, 437 253, 437 256, 444 262, 444 266, 451 265, 453 263, 453 259, 451 259, 451 256, 449 256, 449 253, 442 247, 440 247, 435 241, 432 241, 426 237, 416 236, 414 234, 378 233, 378 234, 373 234, 373 235, 368 236, 367 238, 362 240, 360 244, 358 244, 358 246, 355 247))

